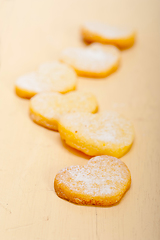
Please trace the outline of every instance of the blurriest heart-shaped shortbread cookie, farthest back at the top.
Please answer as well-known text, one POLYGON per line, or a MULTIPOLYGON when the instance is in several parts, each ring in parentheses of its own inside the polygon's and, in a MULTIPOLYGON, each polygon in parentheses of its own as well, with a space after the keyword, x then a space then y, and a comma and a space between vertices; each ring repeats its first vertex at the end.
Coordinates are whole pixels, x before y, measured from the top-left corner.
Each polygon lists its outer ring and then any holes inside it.
POLYGON ((135 41, 135 31, 132 29, 109 26, 98 22, 85 23, 81 33, 87 42, 114 44, 119 48, 128 48, 135 41))

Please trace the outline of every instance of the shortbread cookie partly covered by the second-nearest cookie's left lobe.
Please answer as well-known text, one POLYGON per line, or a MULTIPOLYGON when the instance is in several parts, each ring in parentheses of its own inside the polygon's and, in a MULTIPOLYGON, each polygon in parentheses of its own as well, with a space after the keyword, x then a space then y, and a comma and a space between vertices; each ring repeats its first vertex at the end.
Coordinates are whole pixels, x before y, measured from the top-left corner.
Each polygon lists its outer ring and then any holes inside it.
POLYGON ((30 116, 34 122, 58 130, 61 116, 70 112, 95 113, 98 109, 92 93, 72 91, 66 94, 44 92, 30 99, 30 116))

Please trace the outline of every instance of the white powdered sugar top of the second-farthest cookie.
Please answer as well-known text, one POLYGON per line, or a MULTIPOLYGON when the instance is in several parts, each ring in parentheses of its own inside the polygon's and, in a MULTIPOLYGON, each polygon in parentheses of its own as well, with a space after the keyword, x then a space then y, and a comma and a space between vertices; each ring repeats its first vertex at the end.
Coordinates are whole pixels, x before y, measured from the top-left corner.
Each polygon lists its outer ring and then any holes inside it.
POLYGON ((113 46, 105 49, 101 44, 91 44, 86 48, 67 48, 61 59, 81 71, 104 72, 119 60, 119 51, 113 46))

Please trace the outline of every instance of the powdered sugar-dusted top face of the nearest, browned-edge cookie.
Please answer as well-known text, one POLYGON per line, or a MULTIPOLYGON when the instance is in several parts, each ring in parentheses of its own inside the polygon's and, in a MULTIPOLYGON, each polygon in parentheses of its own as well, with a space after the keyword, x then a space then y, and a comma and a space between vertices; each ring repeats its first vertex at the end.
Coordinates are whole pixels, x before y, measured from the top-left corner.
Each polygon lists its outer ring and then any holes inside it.
POLYGON ((62 169, 56 178, 71 191, 95 197, 123 191, 130 180, 130 172, 119 159, 98 156, 87 165, 62 169))

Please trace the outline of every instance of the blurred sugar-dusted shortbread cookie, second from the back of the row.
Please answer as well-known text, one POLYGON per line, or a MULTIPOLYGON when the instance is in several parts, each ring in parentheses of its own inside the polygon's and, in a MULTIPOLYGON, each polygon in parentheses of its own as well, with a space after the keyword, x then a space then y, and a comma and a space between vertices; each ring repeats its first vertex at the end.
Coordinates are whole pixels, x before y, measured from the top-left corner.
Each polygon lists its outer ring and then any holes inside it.
POLYGON ((67 48, 60 60, 72 66, 79 76, 106 77, 120 61, 120 51, 112 45, 93 43, 87 47, 67 48))

